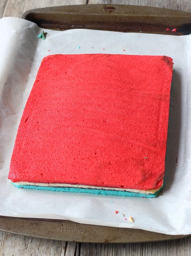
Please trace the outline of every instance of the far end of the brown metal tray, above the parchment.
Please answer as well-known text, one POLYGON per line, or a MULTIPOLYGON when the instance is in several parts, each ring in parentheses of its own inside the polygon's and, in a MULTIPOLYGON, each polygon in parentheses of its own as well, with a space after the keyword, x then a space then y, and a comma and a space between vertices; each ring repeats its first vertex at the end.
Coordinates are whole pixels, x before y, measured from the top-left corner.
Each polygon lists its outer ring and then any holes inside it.
POLYGON ((57 30, 86 28, 166 35, 191 33, 190 12, 150 6, 120 4, 54 6, 27 10, 22 18, 35 22, 39 27, 57 30))

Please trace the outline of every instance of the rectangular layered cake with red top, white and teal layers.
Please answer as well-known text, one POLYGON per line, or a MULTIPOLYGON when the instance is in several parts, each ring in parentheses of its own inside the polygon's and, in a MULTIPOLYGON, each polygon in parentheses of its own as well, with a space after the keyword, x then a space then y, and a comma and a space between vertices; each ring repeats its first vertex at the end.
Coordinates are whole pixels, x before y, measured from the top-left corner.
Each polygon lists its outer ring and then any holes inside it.
POLYGON ((8 179, 22 188, 155 197, 165 174, 172 70, 166 56, 45 57, 8 179))

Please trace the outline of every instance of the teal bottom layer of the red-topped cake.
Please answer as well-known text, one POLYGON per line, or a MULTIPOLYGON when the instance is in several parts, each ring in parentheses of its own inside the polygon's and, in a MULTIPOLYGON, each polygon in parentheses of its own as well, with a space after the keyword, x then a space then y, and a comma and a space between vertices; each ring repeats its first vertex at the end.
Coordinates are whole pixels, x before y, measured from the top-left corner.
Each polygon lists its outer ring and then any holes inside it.
POLYGON ((27 188, 27 189, 38 189, 38 190, 50 190, 50 191, 59 191, 59 192, 72 192, 72 193, 86 193, 86 194, 96 194, 96 195, 110 195, 110 196, 132 196, 132 197, 156 197, 158 193, 163 189, 160 188, 155 194, 143 194, 143 193, 134 193, 128 191, 117 191, 117 190, 106 190, 106 189, 91 189, 91 188, 69 188, 69 187, 43 187, 43 186, 32 186, 32 185, 17 185, 12 182, 18 188, 27 188))

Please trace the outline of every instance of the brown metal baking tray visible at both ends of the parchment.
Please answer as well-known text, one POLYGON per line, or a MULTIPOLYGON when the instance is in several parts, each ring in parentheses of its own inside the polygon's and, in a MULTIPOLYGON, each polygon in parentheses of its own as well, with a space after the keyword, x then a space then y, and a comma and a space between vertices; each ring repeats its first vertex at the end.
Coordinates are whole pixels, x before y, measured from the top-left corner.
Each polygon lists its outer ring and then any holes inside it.
MULTIPOLYGON (((121 32, 189 35, 191 13, 130 5, 74 5, 28 10, 22 18, 44 29, 97 29, 121 32)), ((124 243, 184 238, 141 229, 79 224, 68 220, 0 216, 0 230, 64 241, 124 243)))

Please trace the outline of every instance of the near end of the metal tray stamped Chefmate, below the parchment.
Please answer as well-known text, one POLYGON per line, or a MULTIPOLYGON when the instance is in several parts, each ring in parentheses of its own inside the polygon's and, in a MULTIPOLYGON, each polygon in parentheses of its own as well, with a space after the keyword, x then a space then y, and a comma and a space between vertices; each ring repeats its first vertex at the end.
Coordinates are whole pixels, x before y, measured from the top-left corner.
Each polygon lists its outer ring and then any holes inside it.
POLYGON ((70 220, 23 218, 11 216, 0 216, 0 230, 36 238, 88 243, 159 242, 183 239, 190 236, 189 234, 168 235, 145 231, 142 229, 80 224, 70 220), (16 230, 16 228, 18 228, 18 230, 16 230), (41 230, 41 228, 43 230, 41 230), (52 233, 54 228, 56 229, 52 233), (92 231, 93 236, 95 235, 96 239, 92 237, 92 231))

